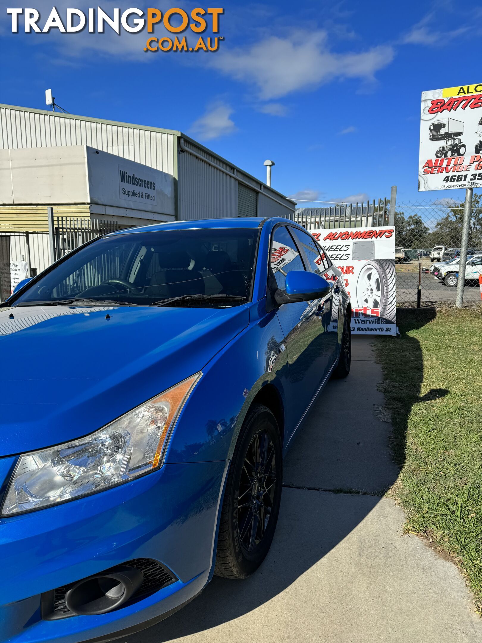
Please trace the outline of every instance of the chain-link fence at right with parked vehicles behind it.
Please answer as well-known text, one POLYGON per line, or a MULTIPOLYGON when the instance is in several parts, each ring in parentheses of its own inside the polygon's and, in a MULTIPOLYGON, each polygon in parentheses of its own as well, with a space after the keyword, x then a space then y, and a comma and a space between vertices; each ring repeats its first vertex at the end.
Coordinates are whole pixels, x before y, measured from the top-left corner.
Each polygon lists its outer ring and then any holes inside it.
MULTIPOLYGON (((469 249, 463 303, 481 301, 482 198, 474 194, 469 228, 469 249)), ((395 208, 395 260, 397 304, 415 306, 455 303, 463 220, 463 201, 451 197, 429 201, 397 201, 395 208)))

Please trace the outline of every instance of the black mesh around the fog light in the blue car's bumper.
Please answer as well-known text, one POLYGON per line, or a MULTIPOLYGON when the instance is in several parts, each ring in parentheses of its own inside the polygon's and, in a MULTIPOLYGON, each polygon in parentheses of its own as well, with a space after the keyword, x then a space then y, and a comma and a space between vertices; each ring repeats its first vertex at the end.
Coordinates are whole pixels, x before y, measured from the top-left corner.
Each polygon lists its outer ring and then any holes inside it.
MULTIPOLYGON (((135 568, 143 572, 144 579, 138 591, 130 597, 129 601, 125 602, 121 607, 126 607, 131 605, 134 602, 145 599, 150 594, 158 592, 163 587, 166 587, 177 581, 177 577, 174 574, 169 572, 161 563, 152 560, 151 558, 136 558, 132 561, 127 561, 127 563, 122 563, 121 565, 116 565, 107 570, 103 570, 105 574, 110 574, 111 572, 117 572, 120 569, 125 568, 135 568)), ((80 579, 82 580, 82 579, 80 579)), ((42 594, 42 619, 44 620, 57 620, 57 619, 66 619, 68 617, 74 616, 74 614, 66 606, 66 593, 68 590, 75 585, 75 583, 69 583, 62 587, 57 587, 57 589, 52 590, 51 592, 45 592, 42 594)))

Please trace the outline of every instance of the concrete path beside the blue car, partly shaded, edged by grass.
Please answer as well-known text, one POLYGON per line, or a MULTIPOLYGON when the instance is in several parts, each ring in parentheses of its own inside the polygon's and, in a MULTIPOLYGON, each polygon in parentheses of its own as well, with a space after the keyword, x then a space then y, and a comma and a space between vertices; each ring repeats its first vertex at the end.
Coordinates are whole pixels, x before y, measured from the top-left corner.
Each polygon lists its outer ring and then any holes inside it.
POLYGON ((278 529, 260 570, 247 581, 215 577, 174 616, 120 640, 482 640, 456 567, 402 536, 404 513, 380 496, 397 468, 390 425, 377 415, 381 372, 370 341, 354 338, 350 376, 326 386, 287 455, 278 529))

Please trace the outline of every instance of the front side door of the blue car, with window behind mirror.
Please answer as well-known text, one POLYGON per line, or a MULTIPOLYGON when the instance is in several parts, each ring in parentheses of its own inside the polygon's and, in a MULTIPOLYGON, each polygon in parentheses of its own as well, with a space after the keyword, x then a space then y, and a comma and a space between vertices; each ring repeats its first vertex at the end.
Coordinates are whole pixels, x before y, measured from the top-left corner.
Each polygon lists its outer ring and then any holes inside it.
MULTIPOLYGON (((306 259, 287 226, 278 226, 272 233, 270 266, 271 278, 281 290, 290 271, 307 269, 306 259)), ((321 300, 283 303, 277 311, 288 355, 290 434, 324 379, 325 328, 321 314, 321 300)))

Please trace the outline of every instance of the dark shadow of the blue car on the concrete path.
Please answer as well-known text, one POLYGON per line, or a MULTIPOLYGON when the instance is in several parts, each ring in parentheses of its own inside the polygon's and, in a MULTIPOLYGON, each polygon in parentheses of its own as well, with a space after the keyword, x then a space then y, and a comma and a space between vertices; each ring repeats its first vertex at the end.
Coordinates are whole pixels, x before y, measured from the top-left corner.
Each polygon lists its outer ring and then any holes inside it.
MULTIPOLYGON (((431 318, 427 311, 422 316, 416 314, 412 327, 431 318)), ((409 329, 404 327, 402 332, 407 334, 409 329)), ((276 535, 258 572, 245 581, 215 577, 186 608, 157 626, 123 638, 126 643, 175 640, 256 610, 341 543, 379 503, 382 494, 397 480, 405 436, 398 431, 395 464, 389 446, 391 423, 384 411, 384 396, 378 390, 383 375, 375 362, 372 341, 386 343, 394 359, 404 359, 397 352, 398 338, 353 338, 350 376, 328 383, 299 435, 292 440, 283 476, 285 487, 292 488, 283 489, 276 535), (320 491, 336 493, 323 494, 320 503, 320 491), (348 502, 347 493, 358 494, 359 502, 348 502)), ((411 403, 416 403, 421 399, 422 351, 415 338, 409 341, 411 359, 407 377, 411 386, 405 394, 411 396, 411 403)), ((433 390, 424 399, 445 393, 433 390)), ((410 406, 405 403, 402 408, 405 414, 402 426, 406 428, 410 406)), ((353 572, 356 574, 356 570, 353 572)), ((293 617, 296 618, 296 606, 293 617)))

